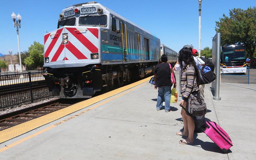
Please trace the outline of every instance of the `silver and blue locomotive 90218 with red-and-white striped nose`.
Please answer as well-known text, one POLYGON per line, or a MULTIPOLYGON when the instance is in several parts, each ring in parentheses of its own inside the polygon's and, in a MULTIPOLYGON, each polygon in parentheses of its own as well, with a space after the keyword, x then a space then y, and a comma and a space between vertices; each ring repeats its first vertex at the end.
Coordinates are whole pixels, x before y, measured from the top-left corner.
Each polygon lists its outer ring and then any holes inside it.
POLYGON ((58 28, 44 35, 45 79, 58 98, 122 86, 153 73, 159 58, 159 38, 96 2, 63 9, 58 28))

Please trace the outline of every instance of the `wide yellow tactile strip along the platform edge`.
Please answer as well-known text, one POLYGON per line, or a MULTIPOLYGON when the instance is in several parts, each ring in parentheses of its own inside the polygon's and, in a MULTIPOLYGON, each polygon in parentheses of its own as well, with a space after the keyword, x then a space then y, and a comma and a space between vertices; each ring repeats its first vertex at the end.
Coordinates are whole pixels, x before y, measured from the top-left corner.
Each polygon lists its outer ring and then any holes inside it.
POLYGON ((36 119, 32 119, 32 120, 27 121, 25 123, 18 124, 16 126, 11 127, 11 128, 7 128, 7 129, 5 129, 3 131, 0 131, 0 143, 3 143, 5 141, 7 141, 7 140, 10 140, 10 139, 14 138, 14 137, 17 137, 17 136, 22 135, 22 134, 24 134, 26 132, 29 132, 29 131, 31 131, 31 130, 33 130, 35 128, 38 128, 38 127, 40 127, 42 125, 48 124, 48 123, 50 123, 52 121, 55 121, 55 120, 57 120, 57 119, 59 119, 61 117, 67 116, 67 115, 69 115, 71 113, 74 113, 74 112, 80 110, 80 109, 83 109, 83 108, 86 108, 88 106, 91 106, 91 105, 93 105, 93 104, 95 104, 95 103, 97 103, 97 102, 99 102, 101 100, 105 100, 106 98, 109 98, 109 97, 114 96, 114 95, 116 95, 118 93, 126 91, 126 90, 128 90, 130 88, 133 88, 133 87, 139 85, 139 84, 147 82, 147 81, 150 80, 150 78, 151 77, 142 79, 142 80, 140 80, 138 82, 135 82, 133 84, 126 85, 124 87, 115 89, 115 90, 107 92, 105 94, 102 94, 102 95, 90 98, 88 100, 76 103, 74 105, 71 105, 69 107, 60 109, 60 110, 55 111, 55 112, 52 112, 52 113, 47 114, 45 116, 41 116, 41 117, 38 117, 36 119))

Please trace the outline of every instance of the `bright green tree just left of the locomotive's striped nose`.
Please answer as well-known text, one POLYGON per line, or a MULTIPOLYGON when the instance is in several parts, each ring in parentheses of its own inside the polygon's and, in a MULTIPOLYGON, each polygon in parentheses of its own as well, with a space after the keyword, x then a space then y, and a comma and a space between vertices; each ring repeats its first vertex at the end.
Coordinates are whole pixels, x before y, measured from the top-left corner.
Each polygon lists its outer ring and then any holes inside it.
POLYGON ((28 48, 29 57, 26 57, 24 63, 29 68, 43 66, 43 45, 34 41, 28 48))

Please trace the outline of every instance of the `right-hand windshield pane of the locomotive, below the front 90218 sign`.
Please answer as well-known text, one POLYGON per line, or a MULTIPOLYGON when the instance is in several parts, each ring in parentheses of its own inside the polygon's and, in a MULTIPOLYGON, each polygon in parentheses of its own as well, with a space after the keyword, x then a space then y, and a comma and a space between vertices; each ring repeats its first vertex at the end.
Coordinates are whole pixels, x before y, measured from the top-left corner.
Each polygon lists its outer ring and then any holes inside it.
POLYGON ((79 25, 106 26, 107 15, 87 15, 79 17, 79 25))

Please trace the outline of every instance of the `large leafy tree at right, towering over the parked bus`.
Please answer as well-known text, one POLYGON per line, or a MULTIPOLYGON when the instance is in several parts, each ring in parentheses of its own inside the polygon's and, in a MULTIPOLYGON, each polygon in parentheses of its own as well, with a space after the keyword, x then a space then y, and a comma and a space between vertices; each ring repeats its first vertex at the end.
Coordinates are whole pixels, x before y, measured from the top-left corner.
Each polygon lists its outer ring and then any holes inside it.
POLYGON ((223 18, 216 21, 215 30, 221 33, 221 45, 243 43, 252 60, 256 46, 256 7, 234 8, 229 10, 229 16, 223 14, 223 18))

